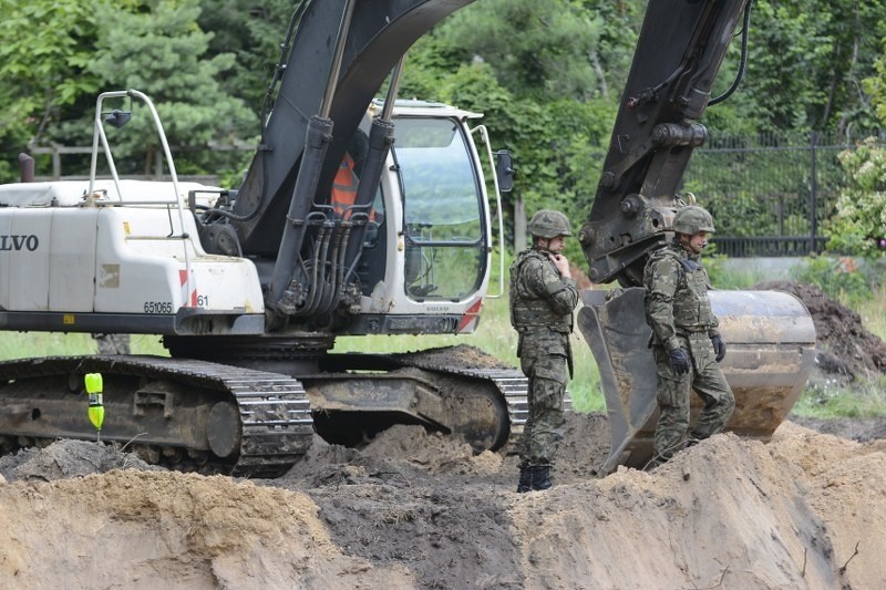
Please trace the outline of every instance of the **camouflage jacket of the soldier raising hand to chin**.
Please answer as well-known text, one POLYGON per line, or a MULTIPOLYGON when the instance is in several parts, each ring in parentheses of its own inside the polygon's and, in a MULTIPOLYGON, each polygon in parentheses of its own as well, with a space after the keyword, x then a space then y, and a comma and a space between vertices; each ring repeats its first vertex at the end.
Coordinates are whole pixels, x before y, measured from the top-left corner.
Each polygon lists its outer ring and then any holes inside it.
POLYGON ((545 252, 529 248, 517 255, 511 266, 509 308, 521 341, 532 334, 534 348, 568 355, 576 304, 576 282, 563 277, 545 252))

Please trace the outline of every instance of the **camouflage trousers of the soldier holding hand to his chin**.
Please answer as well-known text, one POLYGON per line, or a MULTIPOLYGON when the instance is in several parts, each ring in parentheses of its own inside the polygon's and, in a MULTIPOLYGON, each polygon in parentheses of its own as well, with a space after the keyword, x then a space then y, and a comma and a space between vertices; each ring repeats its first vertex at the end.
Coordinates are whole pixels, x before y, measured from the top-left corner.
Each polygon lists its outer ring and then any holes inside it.
POLYGON ((553 466, 566 423, 563 412, 566 358, 524 358, 521 364, 529 377, 529 417, 519 439, 519 466, 553 466))

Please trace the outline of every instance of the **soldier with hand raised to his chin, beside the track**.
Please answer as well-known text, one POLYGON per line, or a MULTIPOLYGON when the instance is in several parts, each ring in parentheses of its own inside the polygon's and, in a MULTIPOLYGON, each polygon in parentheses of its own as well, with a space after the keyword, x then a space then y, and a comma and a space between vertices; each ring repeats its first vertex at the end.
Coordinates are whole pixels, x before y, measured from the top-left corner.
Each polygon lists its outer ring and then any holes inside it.
POLYGON ((563 256, 569 220, 542 209, 529 221, 533 246, 511 266, 511 323, 518 332, 517 355, 529 377, 529 417, 519 443, 517 491, 547 489, 563 438, 567 366, 573 374, 569 334, 578 288, 563 256))

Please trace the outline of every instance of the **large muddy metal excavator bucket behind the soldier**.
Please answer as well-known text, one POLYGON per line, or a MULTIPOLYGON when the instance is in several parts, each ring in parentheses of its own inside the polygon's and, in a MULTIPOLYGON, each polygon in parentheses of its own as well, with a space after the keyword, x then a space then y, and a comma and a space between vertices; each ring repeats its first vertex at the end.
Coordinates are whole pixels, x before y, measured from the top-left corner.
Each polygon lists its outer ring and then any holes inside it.
MULTIPOLYGON (((735 394, 727 431, 767 442, 793 407, 815 360, 815 327, 805 306, 782 291, 711 291, 728 353, 720 366, 735 394)), ((611 428, 601 473, 643 468, 652 458, 658 420, 656 365, 643 290, 587 290, 578 325, 590 344, 611 428)), ((701 400, 692 395, 692 423, 701 400)))

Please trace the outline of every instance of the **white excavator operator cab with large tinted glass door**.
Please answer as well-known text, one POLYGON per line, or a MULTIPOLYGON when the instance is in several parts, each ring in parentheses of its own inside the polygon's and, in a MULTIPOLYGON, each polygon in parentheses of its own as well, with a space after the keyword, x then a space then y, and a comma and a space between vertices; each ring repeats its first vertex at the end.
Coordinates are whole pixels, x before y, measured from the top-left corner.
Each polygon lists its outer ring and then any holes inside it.
MULTIPOLYGON (((373 101, 358 133, 368 133, 382 107, 382 101, 373 101)), ((478 133, 495 170, 486 130, 468 127, 482 116, 441 103, 395 103, 394 143, 374 205, 382 221, 377 235, 370 232, 362 257, 378 260, 372 250, 383 248, 384 271, 381 276, 379 267, 361 276, 361 312, 388 315, 389 330, 396 315, 455 315, 457 325, 442 331, 459 333, 477 325, 493 265, 491 209, 501 211, 496 175, 491 175, 491 195, 474 142, 478 133)), ((501 283, 491 297, 501 296, 501 283)))

